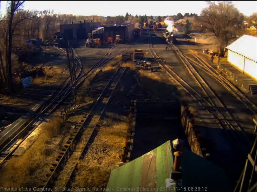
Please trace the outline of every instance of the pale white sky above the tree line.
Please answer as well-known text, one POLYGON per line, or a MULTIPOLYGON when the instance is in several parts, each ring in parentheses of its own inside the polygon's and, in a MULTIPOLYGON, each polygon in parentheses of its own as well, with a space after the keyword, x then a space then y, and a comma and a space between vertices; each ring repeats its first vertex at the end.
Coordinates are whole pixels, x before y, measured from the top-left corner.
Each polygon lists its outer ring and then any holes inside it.
MULTIPOLYGON (((244 15, 257 12, 257 1, 233 1, 235 7, 244 15)), ((1 13, 5 13, 7 1, 1 1, 1 13)), ((200 15, 207 7, 205 1, 26 1, 24 9, 44 11, 53 9, 57 14, 101 15, 101 16, 167 16, 177 13, 196 13, 200 15)))

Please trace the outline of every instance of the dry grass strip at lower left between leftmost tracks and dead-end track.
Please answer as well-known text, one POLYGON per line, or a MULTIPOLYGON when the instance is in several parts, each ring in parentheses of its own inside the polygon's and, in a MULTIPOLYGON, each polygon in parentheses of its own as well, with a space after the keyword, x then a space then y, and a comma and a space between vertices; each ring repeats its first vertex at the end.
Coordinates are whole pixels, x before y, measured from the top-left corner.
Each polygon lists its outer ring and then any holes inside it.
POLYGON ((43 164, 46 153, 46 142, 57 136, 63 127, 63 119, 52 118, 44 126, 34 144, 19 157, 12 157, 1 169, 0 186, 24 187, 29 185, 29 177, 43 164), (28 179, 26 179, 28 178, 28 179))

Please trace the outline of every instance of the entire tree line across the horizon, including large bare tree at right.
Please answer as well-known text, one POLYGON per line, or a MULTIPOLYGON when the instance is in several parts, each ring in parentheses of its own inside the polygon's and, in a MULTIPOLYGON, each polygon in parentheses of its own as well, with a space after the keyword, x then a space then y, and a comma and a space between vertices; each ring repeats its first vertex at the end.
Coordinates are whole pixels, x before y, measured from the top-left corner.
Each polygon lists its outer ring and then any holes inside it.
MULTIPOLYGON (((25 1, 8 1, 6 14, 0 16, 0 90, 7 89, 12 92, 12 71, 17 62, 14 48, 24 46, 25 39, 42 38, 43 40, 52 40, 54 33, 59 31, 60 24, 77 23, 86 20, 86 22, 96 21, 103 25, 121 24, 133 22, 143 24, 148 20, 154 19, 153 16, 132 16, 126 13, 125 16, 73 16, 66 14, 54 14, 52 10, 30 11, 23 10, 25 1)), ((1 8, 1 1, 0 1, 1 8)), ((158 16, 158 21, 163 21, 168 16, 158 16)), ((217 38, 220 53, 223 56, 225 47, 231 40, 232 33, 235 32, 235 26, 244 21, 248 25, 256 25, 256 13, 250 17, 245 17, 232 4, 231 1, 208 1, 208 7, 203 9, 200 16, 195 13, 181 13, 169 16, 177 21, 184 17, 195 17, 200 22, 202 28, 213 33, 217 38)), ((186 33, 189 31, 189 21, 187 20, 186 33)))

